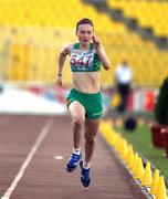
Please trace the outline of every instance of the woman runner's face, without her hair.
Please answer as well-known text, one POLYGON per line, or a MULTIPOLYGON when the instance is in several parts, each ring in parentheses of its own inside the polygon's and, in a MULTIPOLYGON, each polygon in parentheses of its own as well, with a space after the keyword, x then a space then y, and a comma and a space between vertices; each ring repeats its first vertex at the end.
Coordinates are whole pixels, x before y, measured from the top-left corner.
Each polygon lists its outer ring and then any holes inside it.
POLYGON ((78 25, 76 35, 81 45, 90 45, 93 34, 93 27, 91 24, 78 25))

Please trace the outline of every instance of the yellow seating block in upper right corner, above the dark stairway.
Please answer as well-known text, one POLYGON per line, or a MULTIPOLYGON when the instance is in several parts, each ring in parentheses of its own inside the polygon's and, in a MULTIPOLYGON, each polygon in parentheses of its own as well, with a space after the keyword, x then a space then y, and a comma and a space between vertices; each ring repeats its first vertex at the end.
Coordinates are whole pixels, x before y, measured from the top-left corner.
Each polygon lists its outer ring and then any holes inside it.
POLYGON ((151 28, 156 35, 168 36, 167 1, 108 0, 107 2, 112 8, 123 10, 126 17, 135 18, 139 25, 151 28))

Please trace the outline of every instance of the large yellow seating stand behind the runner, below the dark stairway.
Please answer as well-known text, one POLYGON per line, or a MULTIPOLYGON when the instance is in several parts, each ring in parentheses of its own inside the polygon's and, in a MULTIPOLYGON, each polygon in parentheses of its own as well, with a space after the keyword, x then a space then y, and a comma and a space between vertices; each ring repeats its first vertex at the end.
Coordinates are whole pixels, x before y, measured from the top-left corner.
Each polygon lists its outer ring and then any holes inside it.
MULTIPOLYGON (((158 86, 168 75, 166 51, 82 0, 0 0, 0 80, 53 83, 57 53, 64 43, 75 41, 75 23, 83 17, 93 19, 112 62, 112 71, 102 71, 104 84, 114 83, 113 69, 125 57, 135 84, 158 86)), ((64 82, 70 84, 67 62, 64 82)))

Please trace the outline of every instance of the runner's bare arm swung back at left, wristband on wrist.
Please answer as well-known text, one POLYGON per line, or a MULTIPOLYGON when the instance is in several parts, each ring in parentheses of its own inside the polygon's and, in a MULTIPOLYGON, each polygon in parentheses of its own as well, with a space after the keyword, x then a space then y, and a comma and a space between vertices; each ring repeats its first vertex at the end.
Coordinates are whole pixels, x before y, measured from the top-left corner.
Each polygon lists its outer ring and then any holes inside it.
POLYGON ((72 44, 66 44, 59 54, 59 69, 57 69, 57 78, 56 85, 62 86, 62 71, 66 60, 66 55, 71 52, 72 44))

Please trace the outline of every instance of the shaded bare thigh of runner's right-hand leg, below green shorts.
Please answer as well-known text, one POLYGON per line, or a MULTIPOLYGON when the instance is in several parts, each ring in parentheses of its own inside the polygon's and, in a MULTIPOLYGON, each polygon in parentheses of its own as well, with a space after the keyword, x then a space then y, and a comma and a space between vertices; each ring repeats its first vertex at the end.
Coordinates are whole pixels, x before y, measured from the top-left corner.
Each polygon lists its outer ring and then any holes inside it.
POLYGON ((85 135, 95 137, 98 132, 101 119, 85 119, 85 135))

